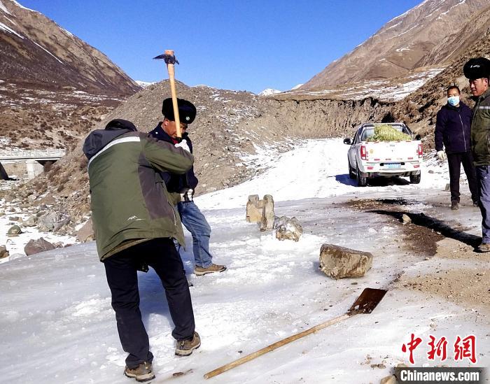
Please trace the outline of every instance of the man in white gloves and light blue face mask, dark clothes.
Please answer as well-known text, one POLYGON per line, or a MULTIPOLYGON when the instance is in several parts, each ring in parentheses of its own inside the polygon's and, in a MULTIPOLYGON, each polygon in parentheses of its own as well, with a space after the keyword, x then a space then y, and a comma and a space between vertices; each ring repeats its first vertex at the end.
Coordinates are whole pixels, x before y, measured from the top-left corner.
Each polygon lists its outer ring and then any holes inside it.
POLYGON ((472 112, 460 101, 461 92, 456 85, 447 88, 447 104, 437 113, 435 124, 435 150, 442 161, 449 165, 449 185, 451 186, 451 209, 459 208, 459 175, 461 164, 468 178, 471 199, 478 206, 478 187, 475 166, 471 153, 470 127, 472 112), (445 153, 443 150, 445 147, 445 153))

